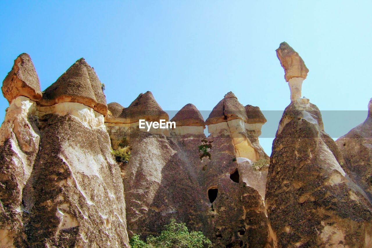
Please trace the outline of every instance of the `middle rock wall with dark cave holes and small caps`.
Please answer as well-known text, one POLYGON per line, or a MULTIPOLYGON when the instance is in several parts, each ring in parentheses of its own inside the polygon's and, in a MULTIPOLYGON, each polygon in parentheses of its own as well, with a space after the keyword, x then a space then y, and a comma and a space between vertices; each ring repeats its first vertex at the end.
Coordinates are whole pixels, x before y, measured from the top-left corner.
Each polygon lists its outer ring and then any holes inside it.
POLYGON ((229 92, 225 106, 224 101, 218 104, 206 122, 209 137, 203 133, 202 115, 192 104, 170 120, 176 128, 147 132, 138 128, 139 119, 158 121, 163 113, 150 93, 146 101, 136 99, 130 105, 131 112, 138 113, 131 115, 135 117, 131 121, 125 118, 127 108, 111 103, 105 122, 114 148, 123 137, 131 146, 131 159, 122 170, 129 236, 156 235, 174 218, 202 231, 216 247, 266 245, 262 195, 267 168, 262 177, 255 178, 261 172, 254 171, 251 162, 238 165, 236 160, 241 156, 253 161, 267 158, 258 143, 266 122, 259 108, 244 107, 229 92), (141 116, 140 110, 147 112, 141 116), (214 117, 217 123, 209 121, 214 117), (247 173, 250 170, 254 175, 247 173))

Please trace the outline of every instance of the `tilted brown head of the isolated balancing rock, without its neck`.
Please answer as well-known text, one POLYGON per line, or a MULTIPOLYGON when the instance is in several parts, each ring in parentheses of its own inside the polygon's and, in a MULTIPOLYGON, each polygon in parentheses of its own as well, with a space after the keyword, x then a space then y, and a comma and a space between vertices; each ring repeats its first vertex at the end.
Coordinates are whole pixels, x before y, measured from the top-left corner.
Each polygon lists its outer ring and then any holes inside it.
POLYGON ((282 42, 276 50, 276 55, 283 67, 284 78, 288 82, 292 77, 302 77, 306 79, 309 69, 305 66, 304 61, 298 53, 286 42, 282 42))

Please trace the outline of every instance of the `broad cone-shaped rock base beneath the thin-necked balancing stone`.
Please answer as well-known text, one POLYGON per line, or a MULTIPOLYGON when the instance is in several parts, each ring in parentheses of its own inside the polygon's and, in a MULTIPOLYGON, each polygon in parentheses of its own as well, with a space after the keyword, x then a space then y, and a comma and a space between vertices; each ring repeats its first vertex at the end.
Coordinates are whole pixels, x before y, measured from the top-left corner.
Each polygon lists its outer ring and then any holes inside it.
POLYGON ((273 142, 265 203, 276 247, 370 247, 372 206, 341 165, 308 101, 284 111, 273 142))

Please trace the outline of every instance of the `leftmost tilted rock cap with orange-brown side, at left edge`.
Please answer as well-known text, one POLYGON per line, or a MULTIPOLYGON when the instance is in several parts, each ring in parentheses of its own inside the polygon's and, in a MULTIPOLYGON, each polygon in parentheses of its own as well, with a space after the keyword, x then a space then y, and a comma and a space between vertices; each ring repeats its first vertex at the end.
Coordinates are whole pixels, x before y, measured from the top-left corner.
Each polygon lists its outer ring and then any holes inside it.
POLYGON ((42 97, 39 77, 28 54, 22 53, 15 59, 1 90, 9 103, 18 96, 26 96, 33 101, 42 97))

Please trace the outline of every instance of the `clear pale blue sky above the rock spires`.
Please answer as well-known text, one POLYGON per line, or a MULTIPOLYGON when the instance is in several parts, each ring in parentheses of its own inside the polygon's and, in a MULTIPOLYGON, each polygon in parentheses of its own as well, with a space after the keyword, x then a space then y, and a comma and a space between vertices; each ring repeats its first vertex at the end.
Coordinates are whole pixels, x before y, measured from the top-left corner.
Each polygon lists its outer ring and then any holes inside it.
MULTIPOLYGON (((0 3, 2 79, 28 53, 44 90, 84 57, 108 103, 150 90, 164 110, 211 110, 232 91, 282 111, 289 89, 275 49, 286 41, 310 70, 303 95, 321 110, 366 110, 372 97, 371 1, 31 2, 0 3)), ((0 97, 0 120, 7 106, 0 97)), ((262 139, 269 154, 271 142, 262 139)))

